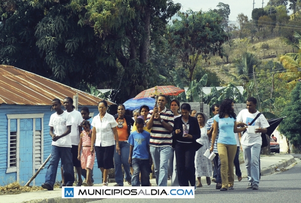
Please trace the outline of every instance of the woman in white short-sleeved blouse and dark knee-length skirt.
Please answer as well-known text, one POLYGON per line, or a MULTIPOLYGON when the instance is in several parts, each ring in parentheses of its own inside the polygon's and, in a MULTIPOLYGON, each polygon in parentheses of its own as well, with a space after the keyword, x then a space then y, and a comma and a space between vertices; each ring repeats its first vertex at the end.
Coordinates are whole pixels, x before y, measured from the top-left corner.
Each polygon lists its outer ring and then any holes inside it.
POLYGON ((108 104, 105 100, 98 103, 99 114, 92 121, 91 152, 95 143, 95 152, 98 168, 103 174, 102 186, 108 186, 109 169, 114 168, 114 148, 116 140, 116 152, 120 154, 117 123, 114 117, 106 113, 108 104), (115 139, 114 139, 115 137, 115 139))

